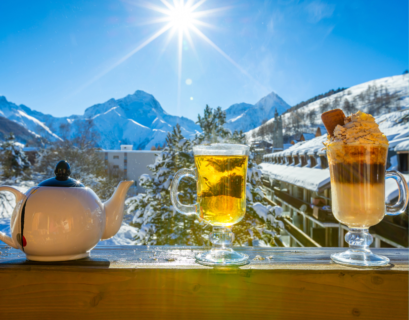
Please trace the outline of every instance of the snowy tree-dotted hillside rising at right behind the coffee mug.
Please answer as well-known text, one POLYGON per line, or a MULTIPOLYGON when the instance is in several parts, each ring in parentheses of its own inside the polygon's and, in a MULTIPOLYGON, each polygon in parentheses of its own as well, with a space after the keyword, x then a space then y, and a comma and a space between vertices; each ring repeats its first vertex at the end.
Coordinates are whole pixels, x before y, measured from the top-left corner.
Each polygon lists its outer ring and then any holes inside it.
MULTIPOLYGON (((347 90, 309 103, 308 105, 296 110, 295 112, 286 113, 282 115, 282 121, 283 123, 290 124, 292 122, 290 119, 291 117, 301 118, 300 122, 303 122, 303 120, 305 122, 308 122, 308 124, 305 125, 304 132, 315 133, 318 126, 323 126, 320 117, 322 111, 340 108, 344 110, 345 114, 347 114, 348 112, 346 111, 345 102, 347 102, 347 104, 350 104, 350 108, 352 109, 351 112, 357 112, 358 110, 361 110, 363 112, 373 113, 373 116, 376 117, 378 123, 383 122, 385 119, 383 116, 380 117, 381 115, 387 115, 391 112, 408 109, 409 76, 408 74, 404 74, 371 80, 358 85, 354 85, 347 90), (386 104, 387 99, 389 99, 388 104, 386 104), (382 105, 382 103, 384 103, 385 107, 379 110, 378 113, 376 111, 373 112, 374 107, 376 107, 377 105, 382 105), (310 112, 313 112, 313 114, 315 112, 315 115, 313 117, 315 120, 313 121, 313 123, 311 123, 310 119, 307 119, 307 115, 310 112)), ((272 122, 273 120, 274 118, 268 120, 267 123, 272 122)), ((407 124, 405 125, 405 128, 407 128, 407 124)), ((384 129, 385 131, 387 131, 386 127, 384 129)), ((247 141, 251 142, 253 140, 259 139, 260 137, 257 136, 258 130, 259 127, 256 127, 246 132, 247 141), (253 133, 255 134, 253 135, 253 133)), ((291 135, 293 133, 291 132, 292 130, 293 128, 290 125, 284 125, 283 133, 291 135)), ((385 134, 388 133, 385 132, 385 134)))

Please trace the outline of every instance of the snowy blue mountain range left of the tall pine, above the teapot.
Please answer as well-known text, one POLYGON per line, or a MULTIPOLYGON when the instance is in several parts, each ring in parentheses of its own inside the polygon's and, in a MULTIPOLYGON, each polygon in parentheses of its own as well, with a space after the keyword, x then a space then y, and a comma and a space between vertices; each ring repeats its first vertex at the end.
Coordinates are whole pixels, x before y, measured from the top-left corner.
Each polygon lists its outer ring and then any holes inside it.
POLYGON ((93 105, 82 116, 63 118, 44 115, 24 105, 17 106, 1 96, 0 116, 20 124, 34 136, 41 135, 51 141, 62 140, 67 135, 75 137, 78 128, 91 119, 99 135, 98 146, 104 149, 132 144, 136 150, 149 150, 152 146, 163 145, 168 131, 177 123, 186 137, 200 130, 192 120, 169 115, 151 94, 140 90, 122 99, 93 105))

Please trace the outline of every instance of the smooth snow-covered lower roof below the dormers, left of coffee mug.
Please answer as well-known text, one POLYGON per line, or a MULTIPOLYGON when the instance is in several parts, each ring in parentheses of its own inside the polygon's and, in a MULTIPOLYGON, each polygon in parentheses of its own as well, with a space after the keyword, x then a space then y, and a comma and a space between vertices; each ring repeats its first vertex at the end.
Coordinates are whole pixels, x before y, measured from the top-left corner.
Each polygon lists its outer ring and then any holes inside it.
POLYGON ((329 187, 328 169, 312 169, 273 163, 260 163, 260 165, 263 174, 279 181, 317 192, 329 187))

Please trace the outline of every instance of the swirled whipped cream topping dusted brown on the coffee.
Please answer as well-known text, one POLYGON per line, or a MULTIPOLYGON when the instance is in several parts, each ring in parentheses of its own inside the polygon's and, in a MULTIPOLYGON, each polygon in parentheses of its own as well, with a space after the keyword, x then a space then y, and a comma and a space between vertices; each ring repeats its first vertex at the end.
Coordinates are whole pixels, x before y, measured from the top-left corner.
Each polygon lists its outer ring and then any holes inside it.
POLYGON ((379 130, 375 118, 369 114, 358 111, 344 119, 344 125, 337 125, 334 137, 328 136, 324 143, 326 146, 339 144, 373 143, 389 145, 386 136, 379 130))

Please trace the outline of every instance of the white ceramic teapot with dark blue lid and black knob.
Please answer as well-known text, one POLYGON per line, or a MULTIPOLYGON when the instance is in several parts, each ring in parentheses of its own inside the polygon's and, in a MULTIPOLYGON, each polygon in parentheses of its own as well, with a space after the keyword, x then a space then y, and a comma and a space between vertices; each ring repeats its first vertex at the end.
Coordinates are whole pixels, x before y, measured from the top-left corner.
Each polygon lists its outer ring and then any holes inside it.
POLYGON ((28 260, 65 261, 88 257, 99 240, 119 231, 125 196, 134 181, 121 181, 112 197, 102 203, 80 181, 70 178, 66 161, 59 161, 55 177, 25 194, 0 186, 16 197, 10 221, 11 237, 0 232, 0 240, 23 251, 28 260))

